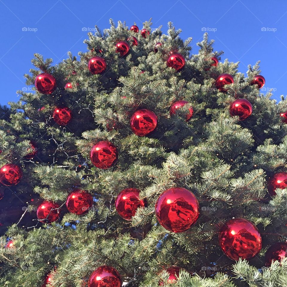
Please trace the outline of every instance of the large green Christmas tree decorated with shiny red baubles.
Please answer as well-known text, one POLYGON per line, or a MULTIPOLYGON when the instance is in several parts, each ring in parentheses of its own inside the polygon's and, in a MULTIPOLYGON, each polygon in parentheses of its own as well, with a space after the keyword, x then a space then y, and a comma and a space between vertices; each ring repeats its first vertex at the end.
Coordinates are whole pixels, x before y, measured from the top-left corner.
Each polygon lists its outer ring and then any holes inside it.
POLYGON ((110 23, 1 107, 0 286, 287 286, 287 102, 207 34, 110 23))

